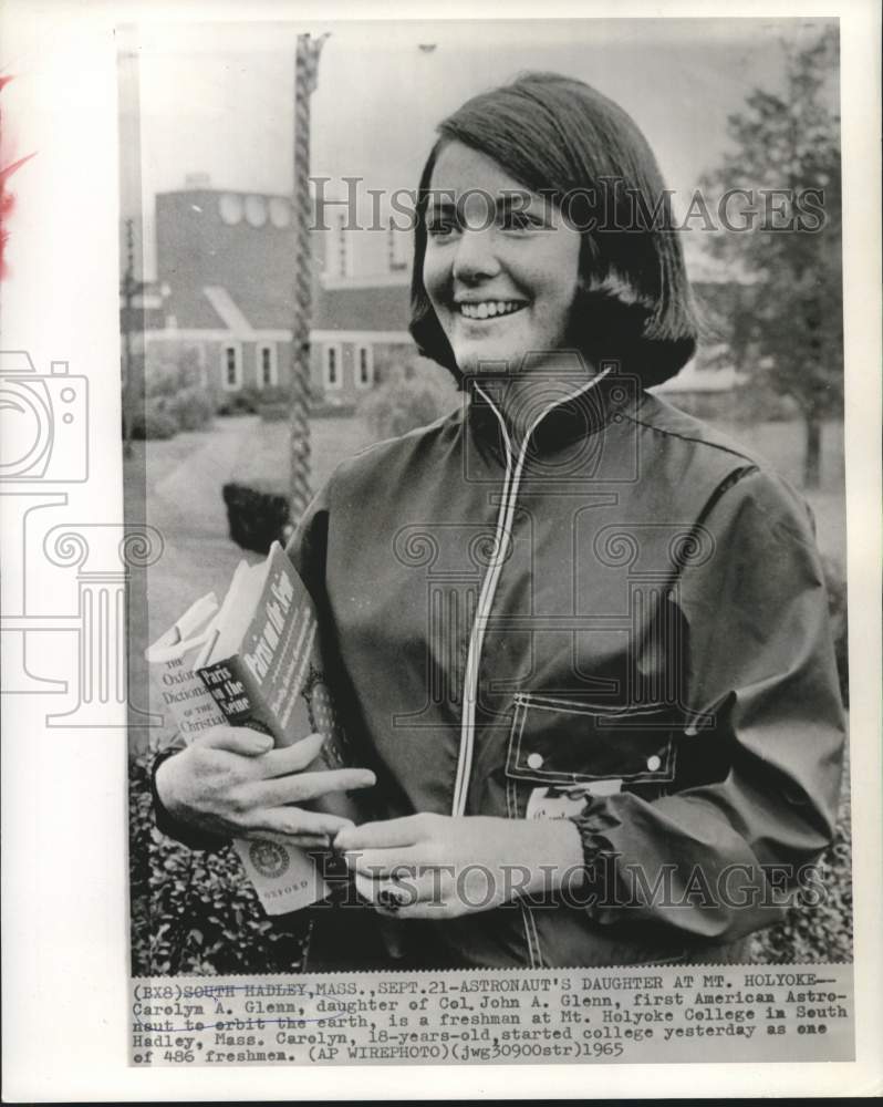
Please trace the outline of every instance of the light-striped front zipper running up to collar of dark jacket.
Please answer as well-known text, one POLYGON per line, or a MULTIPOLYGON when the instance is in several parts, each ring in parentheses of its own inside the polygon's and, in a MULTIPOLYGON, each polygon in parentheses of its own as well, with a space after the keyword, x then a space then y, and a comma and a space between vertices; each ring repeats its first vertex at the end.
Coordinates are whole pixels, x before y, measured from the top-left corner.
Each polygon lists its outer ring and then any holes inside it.
POLYGON ((606 376, 609 372, 610 366, 599 373, 598 376, 593 376, 591 381, 586 381, 585 384, 576 389, 576 391, 571 395, 555 400, 548 406, 543 407, 537 418, 528 427, 521 448, 518 452, 518 457, 515 458, 515 464, 512 441, 509 437, 506 421, 503 420, 502 414, 497 410, 497 406, 490 396, 476 385, 476 392, 480 393, 490 405, 491 411, 497 416, 497 422, 500 424, 500 430, 502 431, 503 442, 506 443, 506 476, 503 477, 502 498, 500 500, 500 509, 497 513, 497 527, 494 534, 494 556, 488 565, 485 579, 481 581, 481 588, 478 593, 478 604, 476 607, 475 622, 472 623, 471 634, 469 635, 469 651, 466 656, 466 675, 464 677, 463 689, 463 720, 460 723, 460 748, 459 756, 457 758, 457 775, 454 782, 454 799, 450 810, 450 814, 454 816, 461 816, 466 813, 466 800, 469 795, 469 778, 471 775, 472 755, 475 752, 475 712, 478 694, 478 670, 481 662, 481 648, 485 643, 485 634, 490 620, 490 610, 494 606, 494 597, 497 592, 500 572, 502 570, 503 561, 506 560, 507 545, 511 540, 512 519, 515 517, 516 503, 518 500, 518 489, 521 485, 521 475, 524 468, 528 444, 530 443, 533 432, 553 407, 558 407, 559 404, 575 400, 576 396, 588 392, 604 376, 606 376))

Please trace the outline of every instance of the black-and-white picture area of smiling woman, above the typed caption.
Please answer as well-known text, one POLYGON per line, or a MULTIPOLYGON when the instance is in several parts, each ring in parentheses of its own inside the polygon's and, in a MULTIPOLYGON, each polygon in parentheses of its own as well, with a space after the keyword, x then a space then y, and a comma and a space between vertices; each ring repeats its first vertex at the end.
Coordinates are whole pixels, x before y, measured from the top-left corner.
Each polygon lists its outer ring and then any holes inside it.
POLYGON ((177 666, 141 666, 136 972, 849 960, 838 56, 794 19, 122 59, 127 507, 177 666), (274 541, 337 768, 266 717, 312 700, 281 615, 239 699, 183 683, 233 651, 179 618, 274 541), (330 897, 268 917, 232 839, 330 897))

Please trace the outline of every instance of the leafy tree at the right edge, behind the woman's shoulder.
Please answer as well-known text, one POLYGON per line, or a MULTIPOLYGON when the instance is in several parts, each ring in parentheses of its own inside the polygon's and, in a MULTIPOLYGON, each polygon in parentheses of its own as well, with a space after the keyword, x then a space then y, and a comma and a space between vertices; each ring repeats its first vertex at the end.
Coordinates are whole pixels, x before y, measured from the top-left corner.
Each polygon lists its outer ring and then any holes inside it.
POLYGON ((822 422, 843 403, 837 31, 785 54, 783 92, 756 89, 729 116, 734 148, 704 180, 717 195, 718 213, 729 195, 728 228, 707 242, 745 281, 730 321, 734 356, 798 404, 804 485, 812 488, 820 479, 822 422), (734 200, 742 203, 741 216, 734 200))

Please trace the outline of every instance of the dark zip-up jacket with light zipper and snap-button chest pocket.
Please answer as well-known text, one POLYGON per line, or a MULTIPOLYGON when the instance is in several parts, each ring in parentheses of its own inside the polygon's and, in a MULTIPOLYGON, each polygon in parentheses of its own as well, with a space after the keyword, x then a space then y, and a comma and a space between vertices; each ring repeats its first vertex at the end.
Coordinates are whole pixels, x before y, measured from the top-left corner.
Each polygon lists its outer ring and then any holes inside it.
POLYGON ((835 818, 809 511, 626 380, 537 390, 520 445, 503 387, 343 462, 290 546, 374 817, 551 800, 582 837, 584 900, 402 931, 429 966, 735 960, 813 882, 835 818))

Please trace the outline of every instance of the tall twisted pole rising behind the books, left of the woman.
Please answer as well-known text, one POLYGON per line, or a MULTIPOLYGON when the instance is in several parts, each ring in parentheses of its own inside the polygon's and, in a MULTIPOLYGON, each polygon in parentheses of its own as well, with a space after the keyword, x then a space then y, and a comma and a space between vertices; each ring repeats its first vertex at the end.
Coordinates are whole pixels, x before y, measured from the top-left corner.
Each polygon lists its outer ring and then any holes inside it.
POLYGON ((294 58, 294 296, 291 320, 290 518, 310 501, 310 325, 313 258, 310 228, 310 96, 316 86, 319 55, 328 34, 298 35, 294 58))

